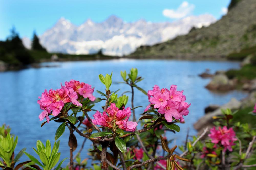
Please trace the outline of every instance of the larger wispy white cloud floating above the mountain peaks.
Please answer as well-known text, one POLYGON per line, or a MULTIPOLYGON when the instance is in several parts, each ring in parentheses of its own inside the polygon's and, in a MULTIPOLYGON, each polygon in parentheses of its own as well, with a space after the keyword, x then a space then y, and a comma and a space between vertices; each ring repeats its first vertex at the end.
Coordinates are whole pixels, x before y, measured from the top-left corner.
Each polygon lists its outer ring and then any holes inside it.
POLYGON ((180 19, 188 16, 194 10, 195 5, 189 4, 187 1, 183 1, 182 4, 175 9, 164 9, 163 15, 172 19, 180 19))

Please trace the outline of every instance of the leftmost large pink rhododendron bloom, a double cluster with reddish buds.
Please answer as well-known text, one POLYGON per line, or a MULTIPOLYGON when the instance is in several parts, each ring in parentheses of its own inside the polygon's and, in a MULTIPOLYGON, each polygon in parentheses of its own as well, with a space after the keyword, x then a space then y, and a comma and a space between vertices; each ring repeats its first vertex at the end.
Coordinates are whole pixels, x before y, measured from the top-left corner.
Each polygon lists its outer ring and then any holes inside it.
POLYGON ((40 121, 46 117, 46 120, 49 123, 49 113, 52 112, 53 116, 57 116, 65 103, 72 102, 77 106, 82 106, 82 104, 77 100, 78 94, 84 98, 88 97, 91 101, 94 101, 95 97, 92 96, 93 91, 94 88, 91 88, 91 85, 80 83, 75 80, 65 82, 65 86, 61 85, 61 89, 50 89, 49 92, 45 89, 42 96, 38 97, 40 100, 37 101, 40 105, 40 109, 43 110, 39 115, 40 121))

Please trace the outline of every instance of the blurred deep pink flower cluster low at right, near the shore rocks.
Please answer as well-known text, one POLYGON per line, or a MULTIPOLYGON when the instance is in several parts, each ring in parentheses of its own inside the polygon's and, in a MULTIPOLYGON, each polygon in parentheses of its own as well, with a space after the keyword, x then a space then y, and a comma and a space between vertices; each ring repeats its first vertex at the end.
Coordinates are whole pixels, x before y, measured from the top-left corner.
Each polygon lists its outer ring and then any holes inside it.
POLYGON ((216 130, 215 127, 211 128, 208 136, 212 139, 212 143, 220 143, 223 145, 224 151, 226 151, 226 149, 232 151, 232 146, 235 145, 234 141, 237 140, 233 128, 227 129, 226 126, 224 126, 222 129, 219 127, 219 130, 216 130))

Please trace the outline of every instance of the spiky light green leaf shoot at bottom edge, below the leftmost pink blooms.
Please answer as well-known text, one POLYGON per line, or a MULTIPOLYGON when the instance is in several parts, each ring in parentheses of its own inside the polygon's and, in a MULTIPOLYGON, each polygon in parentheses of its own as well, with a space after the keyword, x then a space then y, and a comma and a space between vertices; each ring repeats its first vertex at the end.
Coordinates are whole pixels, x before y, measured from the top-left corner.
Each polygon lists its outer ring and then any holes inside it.
MULTIPOLYGON (((40 160, 42 161, 39 162, 38 159, 36 159, 34 156, 30 155, 29 153, 23 151, 25 153, 25 155, 28 156, 28 158, 35 162, 36 164, 38 164, 39 166, 41 166, 44 170, 50 170, 52 168, 55 167, 55 165, 59 162, 59 159, 60 159, 60 153, 58 153, 59 151, 59 145, 60 145, 60 141, 58 142, 54 142, 54 145, 53 147, 51 148, 51 143, 49 140, 46 141, 46 144, 44 146, 44 144, 38 140, 36 142, 36 148, 33 148, 34 151, 36 152, 36 154, 39 156, 40 160)), ((67 158, 65 158, 67 159, 67 158)), ((61 164, 63 163, 63 161, 65 160, 63 159, 59 165, 57 166, 56 170, 60 170, 61 169, 61 164)), ((30 167, 31 166, 28 166, 28 165, 25 165, 27 167, 30 167)), ((31 168, 33 169, 33 168, 31 168)))

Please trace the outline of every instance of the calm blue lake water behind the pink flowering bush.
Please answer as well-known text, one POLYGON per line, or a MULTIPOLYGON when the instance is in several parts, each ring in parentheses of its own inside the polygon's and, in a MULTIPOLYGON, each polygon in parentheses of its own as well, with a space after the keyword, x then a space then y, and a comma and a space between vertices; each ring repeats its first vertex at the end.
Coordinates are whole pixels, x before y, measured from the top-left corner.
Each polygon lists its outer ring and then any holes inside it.
MULTIPOLYGON (((178 60, 108 60, 108 61, 78 61, 78 62, 55 62, 42 63, 42 65, 58 65, 59 67, 51 68, 29 68, 20 71, 8 71, 0 73, 0 125, 6 123, 12 128, 11 132, 18 135, 18 145, 16 153, 23 147, 27 152, 35 155, 31 147, 36 147, 36 141, 41 140, 45 143, 49 139, 54 142, 55 131, 60 125, 56 122, 45 124, 42 128, 38 119, 41 113, 37 104, 38 96, 45 89, 60 88, 60 83, 71 79, 79 80, 91 84, 95 90, 104 91, 104 85, 98 79, 99 74, 105 75, 113 71, 113 84, 111 90, 117 90, 121 95, 124 91, 130 90, 125 84, 115 82, 122 81, 120 71, 129 71, 130 68, 138 68, 138 73, 145 79, 138 85, 146 91, 152 89, 157 84, 160 88, 170 88, 175 84, 178 90, 184 90, 187 102, 191 103, 189 115, 185 116, 185 124, 179 124, 181 130, 173 134, 168 132, 167 138, 174 138, 170 145, 182 145, 185 141, 187 129, 190 129, 190 135, 196 135, 193 129, 193 123, 204 115, 204 108, 209 104, 225 104, 232 97, 237 99, 244 98, 247 93, 241 91, 230 91, 227 93, 213 93, 204 88, 210 79, 202 79, 198 74, 210 69, 211 73, 217 70, 228 70, 230 68, 239 68, 238 62, 225 61, 178 61, 178 60)), ((128 94, 130 95, 130 94, 128 94)), ((101 97, 96 91, 94 96, 101 97)), ((148 104, 148 97, 138 90, 135 90, 135 106, 148 104)), ((94 109, 101 109, 104 101, 97 103, 94 109)), ((126 105, 130 106, 130 101, 126 105)), ((137 118, 140 117, 144 108, 137 108, 137 118)), ((81 114, 81 113, 80 113, 81 114)), ((89 113, 92 117, 94 112, 89 113)), ((80 149, 83 137, 75 134, 78 140, 78 147, 74 154, 80 149)), ((68 147, 69 130, 66 129, 64 134, 59 138, 61 159, 69 157, 68 147)), ((91 142, 86 141, 85 148, 81 154, 82 159, 89 157, 87 150, 91 148, 91 142)), ((28 160, 23 155, 21 160, 28 160)), ((64 165, 68 160, 64 162, 64 165)))

